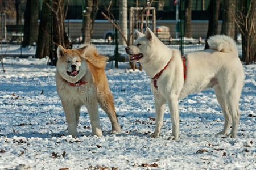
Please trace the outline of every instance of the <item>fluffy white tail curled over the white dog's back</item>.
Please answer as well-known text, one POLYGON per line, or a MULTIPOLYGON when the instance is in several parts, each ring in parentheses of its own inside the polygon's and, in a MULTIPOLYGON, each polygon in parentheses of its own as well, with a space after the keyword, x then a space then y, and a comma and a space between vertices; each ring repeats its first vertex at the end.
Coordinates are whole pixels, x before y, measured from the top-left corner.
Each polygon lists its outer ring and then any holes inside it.
POLYGON ((209 37, 207 42, 211 49, 219 52, 232 52, 238 54, 237 44, 232 37, 226 35, 214 35, 209 37))

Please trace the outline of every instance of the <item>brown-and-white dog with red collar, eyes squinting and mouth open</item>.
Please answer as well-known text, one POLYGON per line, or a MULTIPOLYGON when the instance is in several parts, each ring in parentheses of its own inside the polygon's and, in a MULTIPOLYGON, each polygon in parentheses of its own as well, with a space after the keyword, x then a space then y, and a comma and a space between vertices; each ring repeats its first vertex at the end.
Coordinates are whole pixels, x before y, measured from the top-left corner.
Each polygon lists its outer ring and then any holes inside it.
POLYGON ((104 71, 106 57, 94 45, 79 49, 57 49, 56 86, 68 122, 68 134, 77 135, 79 111, 86 105, 93 135, 102 136, 98 104, 108 114, 112 133, 121 129, 115 114, 114 99, 104 71))

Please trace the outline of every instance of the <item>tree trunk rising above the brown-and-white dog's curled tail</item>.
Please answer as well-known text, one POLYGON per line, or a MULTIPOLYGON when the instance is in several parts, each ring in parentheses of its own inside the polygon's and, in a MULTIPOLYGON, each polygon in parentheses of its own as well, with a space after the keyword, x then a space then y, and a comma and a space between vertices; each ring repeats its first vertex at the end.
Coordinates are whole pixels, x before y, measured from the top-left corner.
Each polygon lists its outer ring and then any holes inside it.
POLYGON ((93 24, 98 12, 98 0, 88 0, 86 12, 83 13, 85 23, 82 27, 82 42, 89 43, 93 33, 93 24))

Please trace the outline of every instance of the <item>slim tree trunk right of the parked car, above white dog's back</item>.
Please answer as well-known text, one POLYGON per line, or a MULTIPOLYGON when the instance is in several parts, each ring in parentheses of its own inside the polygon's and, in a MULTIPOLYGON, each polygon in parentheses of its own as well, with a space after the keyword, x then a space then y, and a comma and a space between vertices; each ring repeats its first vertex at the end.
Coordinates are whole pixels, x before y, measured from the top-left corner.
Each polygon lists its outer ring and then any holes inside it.
POLYGON ((184 37, 191 38, 191 14, 192 14, 192 0, 185 1, 185 32, 184 37))

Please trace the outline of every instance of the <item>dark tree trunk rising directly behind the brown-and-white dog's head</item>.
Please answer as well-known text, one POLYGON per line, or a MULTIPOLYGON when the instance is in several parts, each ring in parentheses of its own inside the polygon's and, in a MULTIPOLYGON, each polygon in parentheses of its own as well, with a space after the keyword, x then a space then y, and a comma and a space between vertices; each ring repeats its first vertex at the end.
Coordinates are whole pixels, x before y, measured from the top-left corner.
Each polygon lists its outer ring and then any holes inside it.
POLYGON ((64 0, 52 0, 52 15, 53 15, 53 54, 50 56, 50 65, 57 63, 57 48, 62 45, 65 49, 71 49, 72 44, 69 42, 67 33, 64 29, 65 11, 64 0))

